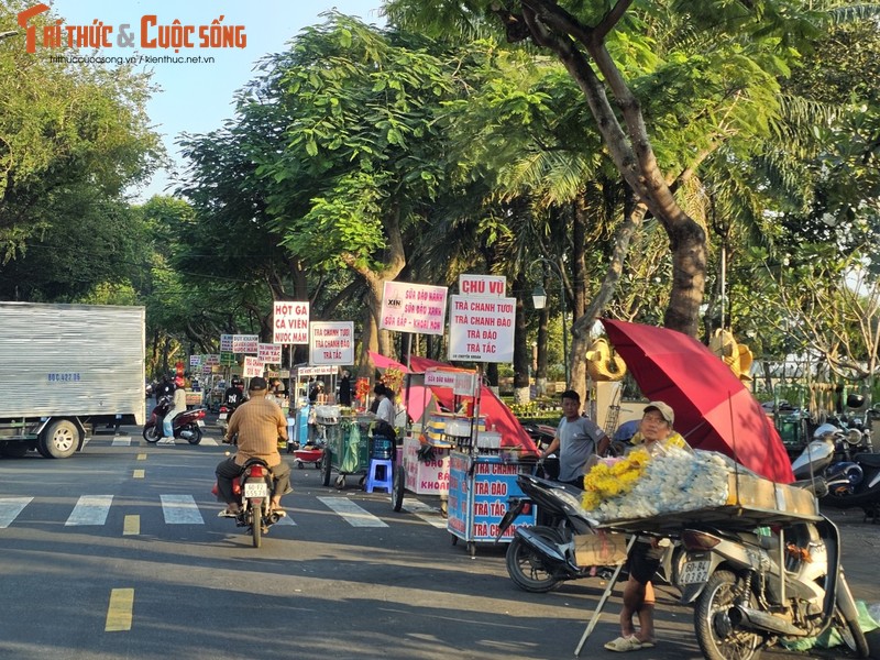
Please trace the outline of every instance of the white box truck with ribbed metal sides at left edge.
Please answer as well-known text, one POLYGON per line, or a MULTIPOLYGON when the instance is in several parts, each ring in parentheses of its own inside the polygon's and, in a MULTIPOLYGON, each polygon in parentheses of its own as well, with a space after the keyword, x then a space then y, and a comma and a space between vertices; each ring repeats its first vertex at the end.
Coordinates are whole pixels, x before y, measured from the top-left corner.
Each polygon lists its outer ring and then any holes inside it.
POLYGON ((64 459, 144 424, 144 308, 0 301, 0 453, 64 459))

